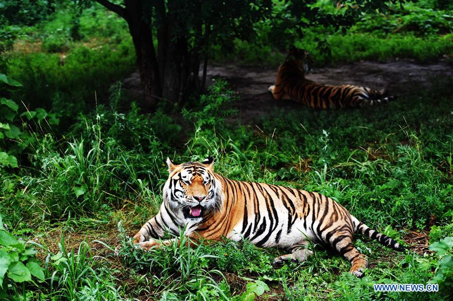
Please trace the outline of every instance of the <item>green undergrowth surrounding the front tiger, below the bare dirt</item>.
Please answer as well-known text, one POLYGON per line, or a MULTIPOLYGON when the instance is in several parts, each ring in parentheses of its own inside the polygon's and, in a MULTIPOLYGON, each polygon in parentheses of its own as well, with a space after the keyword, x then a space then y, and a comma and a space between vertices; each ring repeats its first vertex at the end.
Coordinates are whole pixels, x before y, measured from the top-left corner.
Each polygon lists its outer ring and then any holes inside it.
POLYGON ((403 244, 408 232, 429 230, 433 244, 450 235, 453 218, 451 85, 442 87, 360 110, 277 111, 252 128, 226 121, 235 113, 223 108, 236 96, 221 80, 184 111, 183 127, 162 111, 142 114, 134 104, 118 111, 121 86, 114 85, 111 106, 78 116, 64 139, 38 137, 25 152, 30 167, 3 168, 0 206, 12 211, 6 224, 13 235, 37 237, 47 250, 40 257, 45 281, 9 296, 446 298, 450 257, 396 253, 361 237, 355 244, 371 262, 362 279, 317 246, 307 262, 277 269, 271 263, 279 250, 248 242, 188 247, 181 237, 182 244, 147 253, 128 240, 158 211, 165 157, 186 162, 213 155, 216 171, 226 177, 318 191, 403 244), (405 295, 372 287, 428 281, 439 281, 440 291, 405 295))

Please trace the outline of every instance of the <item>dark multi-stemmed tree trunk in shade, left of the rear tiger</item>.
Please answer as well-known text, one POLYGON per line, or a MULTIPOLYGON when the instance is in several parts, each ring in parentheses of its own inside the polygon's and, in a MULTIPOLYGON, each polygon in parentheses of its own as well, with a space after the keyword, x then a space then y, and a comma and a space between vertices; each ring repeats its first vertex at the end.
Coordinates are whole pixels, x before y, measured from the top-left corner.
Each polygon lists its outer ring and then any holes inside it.
POLYGON ((196 29, 195 42, 190 46, 184 34, 174 36, 184 24, 179 24, 178 28, 176 13, 167 12, 163 0, 155 0, 154 11, 147 0, 124 0, 124 8, 107 0, 96 1, 124 18, 129 26, 146 107, 155 108, 161 99, 181 105, 190 92, 200 90, 201 24, 196 29), (158 24, 154 24, 157 54, 153 41, 153 12, 158 20, 158 24))

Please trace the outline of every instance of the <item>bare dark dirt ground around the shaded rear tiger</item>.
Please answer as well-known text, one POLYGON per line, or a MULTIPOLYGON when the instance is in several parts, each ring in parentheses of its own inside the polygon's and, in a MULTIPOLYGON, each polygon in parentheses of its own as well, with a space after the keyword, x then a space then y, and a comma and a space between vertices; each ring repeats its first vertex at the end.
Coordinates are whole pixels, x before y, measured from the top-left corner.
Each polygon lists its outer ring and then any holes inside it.
MULTIPOLYGON (((257 117, 272 112, 276 108, 304 109, 302 105, 290 101, 275 101, 268 92, 274 84, 277 68, 263 68, 236 64, 209 65, 207 83, 213 78, 226 79, 240 95, 235 105, 238 118, 243 124, 251 123, 257 117)), ((452 77, 453 66, 444 62, 418 64, 411 60, 396 60, 386 63, 361 61, 323 67, 311 70, 307 79, 320 84, 354 84, 373 89, 386 89, 391 95, 404 95, 413 89, 429 87, 433 79, 452 77)), ((124 80, 124 88, 131 95, 142 98, 138 72, 124 80)))

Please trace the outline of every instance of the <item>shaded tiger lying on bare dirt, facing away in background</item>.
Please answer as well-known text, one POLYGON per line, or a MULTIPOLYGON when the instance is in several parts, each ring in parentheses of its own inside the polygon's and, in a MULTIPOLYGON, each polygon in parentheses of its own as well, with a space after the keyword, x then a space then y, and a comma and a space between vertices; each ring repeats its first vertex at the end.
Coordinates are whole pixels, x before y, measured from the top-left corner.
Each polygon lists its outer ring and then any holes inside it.
POLYGON ((310 56, 307 51, 290 46, 289 54, 277 73, 277 82, 269 87, 276 100, 293 100, 315 109, 357 108, 386 103, 395 99, 385 92, 353 85, 328 86, 305 79, 310 56))

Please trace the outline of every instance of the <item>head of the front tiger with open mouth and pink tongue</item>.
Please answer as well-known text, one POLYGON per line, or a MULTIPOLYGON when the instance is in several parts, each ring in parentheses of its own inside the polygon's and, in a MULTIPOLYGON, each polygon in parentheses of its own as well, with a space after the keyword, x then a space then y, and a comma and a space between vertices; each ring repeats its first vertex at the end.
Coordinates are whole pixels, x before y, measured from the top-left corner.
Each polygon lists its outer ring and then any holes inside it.
POLYGON ((222 207, 221 184, 214 176, 214 160, 174 164, 167 158, 169 177, 164 185, 164 202, 184 219, 203 218, 222 207))

